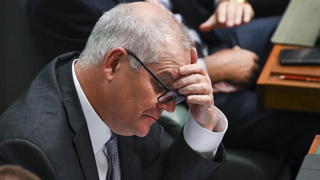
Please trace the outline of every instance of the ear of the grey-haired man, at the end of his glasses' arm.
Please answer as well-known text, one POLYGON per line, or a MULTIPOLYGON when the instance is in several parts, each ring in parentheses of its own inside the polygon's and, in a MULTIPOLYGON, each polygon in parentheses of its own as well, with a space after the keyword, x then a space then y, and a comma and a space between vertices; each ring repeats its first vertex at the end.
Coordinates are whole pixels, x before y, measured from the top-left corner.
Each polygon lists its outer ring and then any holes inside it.
POLYGON ((103 61, 103 75, 107 81, 111 81, 121 67, 121 59, 127 57, 127 52, 122 47, 112 48, 103 61))

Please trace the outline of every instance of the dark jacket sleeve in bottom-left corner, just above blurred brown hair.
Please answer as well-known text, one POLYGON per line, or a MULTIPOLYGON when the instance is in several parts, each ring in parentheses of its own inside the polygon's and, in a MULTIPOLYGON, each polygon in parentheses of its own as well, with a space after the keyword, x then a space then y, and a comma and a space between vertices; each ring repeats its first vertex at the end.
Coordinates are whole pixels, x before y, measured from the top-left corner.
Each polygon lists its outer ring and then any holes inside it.
POLYGON ((0 166, 19 165, 42 180, 57 180, 46 154, 35 144, 24 139, 11 139, 0 143, 0 166))

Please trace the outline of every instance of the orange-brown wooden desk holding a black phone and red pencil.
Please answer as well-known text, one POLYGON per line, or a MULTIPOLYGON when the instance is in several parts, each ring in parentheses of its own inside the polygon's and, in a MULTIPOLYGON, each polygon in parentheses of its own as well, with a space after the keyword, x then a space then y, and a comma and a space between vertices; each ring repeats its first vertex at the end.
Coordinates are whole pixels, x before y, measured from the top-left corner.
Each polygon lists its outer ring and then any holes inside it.
POLYGON ((279 79, 280 75, 320 78, 320 66, 283 66, 282 49, 295 46, 275 45, 257 81, 258 107, 320 112, 320 83, 279 79))

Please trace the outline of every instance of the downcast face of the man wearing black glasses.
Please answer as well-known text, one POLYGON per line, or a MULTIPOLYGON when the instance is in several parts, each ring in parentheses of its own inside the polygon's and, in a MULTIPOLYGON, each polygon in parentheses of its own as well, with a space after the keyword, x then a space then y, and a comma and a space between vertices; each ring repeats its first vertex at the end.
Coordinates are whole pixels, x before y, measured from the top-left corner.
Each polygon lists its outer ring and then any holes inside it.
MULTIPOLYGON (((190 51, 162 49, 160 61, 146 65, 169 89, 175 90, 173 82, 180 78, 179 68, 191 62, 190 51)), ((160 119, 163 110, 174 111, 175 101, 158 102, 157 98, 165 90, 143 67, 136 72, 130 68, 127 60, 119 74, 114 81, 114 98, 107 101, 113 105, 112 121, 107 124, 117 134, 146 136, 150 126, 160 119)))

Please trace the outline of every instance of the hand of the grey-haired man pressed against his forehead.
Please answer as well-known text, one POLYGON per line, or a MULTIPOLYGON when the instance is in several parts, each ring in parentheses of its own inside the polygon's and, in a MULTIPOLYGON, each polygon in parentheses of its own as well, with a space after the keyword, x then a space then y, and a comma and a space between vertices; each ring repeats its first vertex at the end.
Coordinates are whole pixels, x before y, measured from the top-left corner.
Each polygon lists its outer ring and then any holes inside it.
MULTIPOLYGON (((192 62, 196 62, 195 48, 191 51, 191 59, 192 62)), ((182 78, 176 80, 173 87, 187 96, 192 117, 202 127, 213 131, 215 126, 213 89, 204 67, 198 63, 185 65, 180 67, 179 74, 182 78)))

